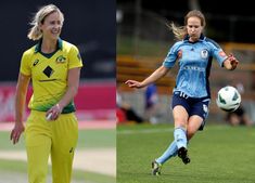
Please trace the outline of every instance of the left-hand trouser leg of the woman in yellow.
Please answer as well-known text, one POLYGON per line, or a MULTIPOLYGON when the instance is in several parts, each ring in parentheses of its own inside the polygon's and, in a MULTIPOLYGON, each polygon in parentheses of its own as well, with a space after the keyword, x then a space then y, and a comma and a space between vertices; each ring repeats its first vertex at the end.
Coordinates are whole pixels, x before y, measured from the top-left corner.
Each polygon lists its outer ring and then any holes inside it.
POLYGON ((46 182, 51 136, 44 113, 31 112, 26 121, 25 145, 29 182, 46 182))

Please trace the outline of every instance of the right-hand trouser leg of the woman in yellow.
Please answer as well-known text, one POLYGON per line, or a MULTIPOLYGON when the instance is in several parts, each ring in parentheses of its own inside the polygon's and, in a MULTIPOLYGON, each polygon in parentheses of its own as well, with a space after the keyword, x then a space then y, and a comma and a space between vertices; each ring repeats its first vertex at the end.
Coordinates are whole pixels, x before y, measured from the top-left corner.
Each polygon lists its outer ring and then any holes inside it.
POLYGON ((54 122, 51 149, 53 182, 69 183, 78 140, 77 119, 68 114, 61 115, 54 122))

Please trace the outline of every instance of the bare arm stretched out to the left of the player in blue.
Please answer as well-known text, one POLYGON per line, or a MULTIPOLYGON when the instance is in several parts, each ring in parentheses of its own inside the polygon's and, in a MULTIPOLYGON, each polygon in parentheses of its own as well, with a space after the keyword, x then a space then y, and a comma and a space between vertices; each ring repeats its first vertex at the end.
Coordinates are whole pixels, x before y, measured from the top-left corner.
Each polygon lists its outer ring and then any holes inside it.
POLYGON ((162 65, 143 81, 139 82, 136 80, 127 80, 125 83, 128 84, 128 87, 130 87, 130 88, 141 89, 143 87, 149 86, 150 83, 157 81, 158 79, 164 77, 168 71, 169 71, 169 68, 166 68, 162 65))

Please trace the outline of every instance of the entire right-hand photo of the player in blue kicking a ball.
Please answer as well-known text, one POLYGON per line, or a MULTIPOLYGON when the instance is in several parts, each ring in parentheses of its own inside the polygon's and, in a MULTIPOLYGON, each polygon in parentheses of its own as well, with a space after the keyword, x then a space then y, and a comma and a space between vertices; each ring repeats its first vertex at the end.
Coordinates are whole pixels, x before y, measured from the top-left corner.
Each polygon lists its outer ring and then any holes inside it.
POLYGON ((117 0, 117 182, 255 180, 247 9, 117 0))

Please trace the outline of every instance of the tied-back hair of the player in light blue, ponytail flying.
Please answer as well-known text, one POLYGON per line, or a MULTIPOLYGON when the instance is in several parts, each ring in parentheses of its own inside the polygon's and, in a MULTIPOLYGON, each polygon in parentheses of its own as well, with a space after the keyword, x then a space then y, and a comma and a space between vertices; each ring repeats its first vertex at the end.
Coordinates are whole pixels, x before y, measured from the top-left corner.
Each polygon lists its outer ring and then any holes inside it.
POLYGON ((174 23, 168 25, 168 27, 173 30, 177 40, 182 40, 184 36, 188 34, 187 31, 188 19, 193 16, 199 17, 201 21, 201 26, 205 27, 206 23, 204 14, 199 10, 192 10, 184 17, 184 26, 176 26, 174 23))

